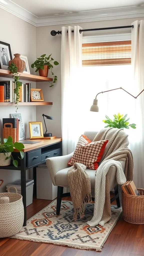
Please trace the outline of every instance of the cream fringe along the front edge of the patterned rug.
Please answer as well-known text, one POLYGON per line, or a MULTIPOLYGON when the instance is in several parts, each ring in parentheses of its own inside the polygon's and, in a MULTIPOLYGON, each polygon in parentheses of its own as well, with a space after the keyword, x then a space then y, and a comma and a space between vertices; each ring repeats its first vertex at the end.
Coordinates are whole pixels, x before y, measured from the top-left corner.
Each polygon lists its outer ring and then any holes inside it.
POLYGON ((86 246, 86 245, 80 245, 80 244, 71 244, 71 243, 65 243, 65 242, 60 242, 60 241, 48 241, 48 240, 35 239, 35 238, 30 238, 30 237, 29 238, 21 237, 21 236, 17 236, 17 235, 9 237, 9 238, 33 241, 33 242, 37 242, 37 243, 51 243, 51 244, 55 244, 55 245, 68 246, 68 247, 80 249, 80 250, 95 250, 96 252, 102 251, 100 247, 86 246))

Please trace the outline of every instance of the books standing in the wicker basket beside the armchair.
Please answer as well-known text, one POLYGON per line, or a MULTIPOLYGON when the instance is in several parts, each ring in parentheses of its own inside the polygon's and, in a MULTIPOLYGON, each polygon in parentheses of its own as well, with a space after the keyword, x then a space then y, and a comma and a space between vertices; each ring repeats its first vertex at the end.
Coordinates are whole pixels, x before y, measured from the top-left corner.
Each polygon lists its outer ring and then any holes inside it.
POLYGON ((122 190, 125 194, 133 195, 133 196, 140 196, 139 191, 137 190, 135 183, 133 180, 127 181, 121 186, 122 190))

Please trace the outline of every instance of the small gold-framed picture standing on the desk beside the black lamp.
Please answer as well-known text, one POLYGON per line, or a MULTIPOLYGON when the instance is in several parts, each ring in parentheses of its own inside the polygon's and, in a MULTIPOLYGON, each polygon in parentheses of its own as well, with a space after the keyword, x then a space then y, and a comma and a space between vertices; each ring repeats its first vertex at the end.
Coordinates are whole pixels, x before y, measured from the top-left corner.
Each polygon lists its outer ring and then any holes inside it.
POLYGON ((30 139, 44 138, 42 122, 29 122, 30 139))

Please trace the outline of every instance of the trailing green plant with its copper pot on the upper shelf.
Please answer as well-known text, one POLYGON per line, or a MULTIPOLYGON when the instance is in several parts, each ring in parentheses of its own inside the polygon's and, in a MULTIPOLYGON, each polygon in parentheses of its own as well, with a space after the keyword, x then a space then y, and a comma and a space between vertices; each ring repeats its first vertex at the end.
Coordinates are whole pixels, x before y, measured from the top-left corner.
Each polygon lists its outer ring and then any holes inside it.
POLYGON ((38 71, 39 75, 42 77, 47 77, 48 70, 50 69, 50 71, 54 77, 53 81, 52 81, 52 85, 50 87, 52 87, 57 80, 57 76, 55 76, 54 73, 52 72, 53 64, 55 66, 59 65, 59 63, 57 61, 54 61, 54 59, 52 57, 50 57, 51 55, 52 54, 50 54, 48 57, 46 57, 46 54, 43 54, 40 56, 40 58, 37 58, 37 60, 31 65, 32 68, 36 67, 35 72, 38 71))

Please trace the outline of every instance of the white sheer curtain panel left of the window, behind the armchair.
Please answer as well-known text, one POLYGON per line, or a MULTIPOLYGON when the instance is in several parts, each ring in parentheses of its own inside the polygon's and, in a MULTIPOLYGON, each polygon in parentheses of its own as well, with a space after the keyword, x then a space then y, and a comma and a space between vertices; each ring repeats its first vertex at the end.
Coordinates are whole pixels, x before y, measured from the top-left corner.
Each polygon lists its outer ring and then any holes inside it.
POLYGON ((61 100, 63 155, 74 151, 81 135, 79 129, 82 67, 82 38, 79 26, 61 28, 61 100), (71 32, 74 30, 74 33, 71 32), (68 33, 67 33, 68 31, 68 33), (80 135, 79 135, 80 134, 80 135))

